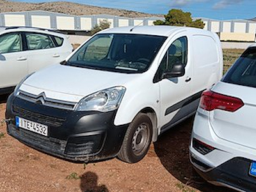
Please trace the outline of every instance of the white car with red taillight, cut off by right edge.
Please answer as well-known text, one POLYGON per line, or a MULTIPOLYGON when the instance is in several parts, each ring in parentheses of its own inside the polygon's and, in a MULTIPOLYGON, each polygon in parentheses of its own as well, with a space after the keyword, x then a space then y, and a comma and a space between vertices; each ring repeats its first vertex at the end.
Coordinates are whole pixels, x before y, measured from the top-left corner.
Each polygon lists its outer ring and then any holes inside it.
POLYGON ((256 191, 256 45, 202 94, 190 159, 212 184, 256 191))

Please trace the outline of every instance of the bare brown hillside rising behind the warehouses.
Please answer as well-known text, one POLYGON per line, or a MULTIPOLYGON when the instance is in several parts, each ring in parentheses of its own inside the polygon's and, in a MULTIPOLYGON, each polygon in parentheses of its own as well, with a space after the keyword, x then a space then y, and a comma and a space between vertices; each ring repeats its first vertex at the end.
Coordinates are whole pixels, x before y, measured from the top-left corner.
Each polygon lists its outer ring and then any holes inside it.
POLYGON ((114 8, 104 8, 99 6, 91 6, 86 4, 70 3, 56 1, 51 3, 20 3, 14 1, 0 0, 0 12, 24 12, 43 10, 48 12, 66 13, 70 15, 98 15, 108 14, 120 17, 163 17, 163 15, 155 15, 130 10, 119 10, 114 8))

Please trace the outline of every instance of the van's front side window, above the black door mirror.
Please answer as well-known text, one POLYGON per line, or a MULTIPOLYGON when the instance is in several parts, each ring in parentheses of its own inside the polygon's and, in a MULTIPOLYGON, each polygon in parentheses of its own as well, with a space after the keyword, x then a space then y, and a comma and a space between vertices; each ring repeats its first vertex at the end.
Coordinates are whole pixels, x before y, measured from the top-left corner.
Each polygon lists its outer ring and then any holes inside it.
POLYGON ((188 38, 182 36, 170 45, 157 70, 155 78, 161 78, 164 72, 170 72, 173 64, 182 63, 186 66, 188 61, 188 38))

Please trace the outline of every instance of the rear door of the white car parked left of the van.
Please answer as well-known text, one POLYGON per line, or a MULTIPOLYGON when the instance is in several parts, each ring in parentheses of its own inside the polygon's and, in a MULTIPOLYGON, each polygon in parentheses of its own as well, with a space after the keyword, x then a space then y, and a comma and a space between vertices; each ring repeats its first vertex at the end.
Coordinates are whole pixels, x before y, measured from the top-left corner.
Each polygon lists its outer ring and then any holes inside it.
POLYGON ((47 65, 60 63, 67 55, 61 52, 53 36, 42 33, 24 33, 28 51, 29 73, 40 70, 47 65))

